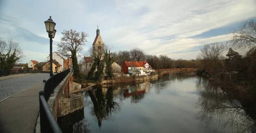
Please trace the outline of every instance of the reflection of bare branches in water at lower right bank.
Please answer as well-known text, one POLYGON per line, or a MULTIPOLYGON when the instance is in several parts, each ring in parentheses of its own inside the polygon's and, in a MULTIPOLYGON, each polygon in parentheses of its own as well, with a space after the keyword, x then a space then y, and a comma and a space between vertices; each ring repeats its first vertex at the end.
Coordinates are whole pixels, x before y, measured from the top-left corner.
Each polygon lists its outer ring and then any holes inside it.
POLYGON ((199 81, 202 82, 202 88, 199 89, 196 107, 202 124, 223 132, 256 132, 256 122, 247 115, 246 108, 239 100, 222 91, 217 84, 199 81))

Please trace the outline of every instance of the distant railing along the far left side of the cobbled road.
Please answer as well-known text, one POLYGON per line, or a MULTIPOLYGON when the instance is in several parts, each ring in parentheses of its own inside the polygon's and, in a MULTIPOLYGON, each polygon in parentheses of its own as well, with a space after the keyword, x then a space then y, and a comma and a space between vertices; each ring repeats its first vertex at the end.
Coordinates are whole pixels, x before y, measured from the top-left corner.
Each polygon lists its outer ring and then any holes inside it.
POLYGON ((0 76, 8 76, 8 75, 16 75, 16 74, 26 74, 26 73, 49 73, 49 71, 32 70, 32 69, 0 70, 0 76))

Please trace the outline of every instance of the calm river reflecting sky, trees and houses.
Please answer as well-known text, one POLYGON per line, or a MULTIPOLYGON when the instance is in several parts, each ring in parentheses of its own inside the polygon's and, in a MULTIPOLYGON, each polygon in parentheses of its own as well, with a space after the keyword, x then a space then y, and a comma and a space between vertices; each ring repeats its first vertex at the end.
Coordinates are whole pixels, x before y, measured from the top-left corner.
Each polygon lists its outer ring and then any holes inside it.
POLYGON ((64 133, 251 132, 255 121, 241 109, 234 111, 229 101, 236 100, 220 97, 220 92, 195 74, 94 86, 82 93, 84 109, 58 123, 64 133))

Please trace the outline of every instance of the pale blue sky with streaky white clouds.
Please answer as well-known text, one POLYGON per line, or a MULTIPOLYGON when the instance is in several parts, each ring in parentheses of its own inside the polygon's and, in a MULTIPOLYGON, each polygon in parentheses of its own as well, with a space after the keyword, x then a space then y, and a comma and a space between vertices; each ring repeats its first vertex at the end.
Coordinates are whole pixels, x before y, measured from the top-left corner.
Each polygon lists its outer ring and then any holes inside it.
POLYGON ((99 25, 114 51, 138 47, 151 55, 195 59, 204 44, 226 42, 234 29, 256 19, 256 0, 0 0, 0 37, 19 42, 25 57, 46 61, 44 21, 56 23, 53 51, 63 30, 89 34, 86 55, 99 25))

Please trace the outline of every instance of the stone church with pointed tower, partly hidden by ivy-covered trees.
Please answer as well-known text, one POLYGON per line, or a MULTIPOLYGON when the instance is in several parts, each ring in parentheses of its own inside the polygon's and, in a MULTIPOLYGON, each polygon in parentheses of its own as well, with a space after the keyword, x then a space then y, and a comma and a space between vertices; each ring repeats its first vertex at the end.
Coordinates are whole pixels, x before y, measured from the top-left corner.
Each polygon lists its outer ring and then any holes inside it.
MULTIPOLYGON (((93 55, 98 54, 99 52, 103 53, 104 51, 104 43, 102 41, 102 37, 99 34, 99 27, 96 30, 96 37, 93 41, 93 55)), ((104 54, 102 54, 102 58, 104 54)), ((84 56, 84 60, 83 60, 83 64, 82 64, 82 69, 81 71, 84 73, 88 73, 90 72, 90 69, 92 68, 94 63, 94 57, 85 57, 84 56)), ((112 64, 112 70, 113 72, 121 72, 121 66, 119 66, 116 62, 114 62, 112 64)))

